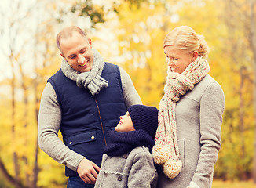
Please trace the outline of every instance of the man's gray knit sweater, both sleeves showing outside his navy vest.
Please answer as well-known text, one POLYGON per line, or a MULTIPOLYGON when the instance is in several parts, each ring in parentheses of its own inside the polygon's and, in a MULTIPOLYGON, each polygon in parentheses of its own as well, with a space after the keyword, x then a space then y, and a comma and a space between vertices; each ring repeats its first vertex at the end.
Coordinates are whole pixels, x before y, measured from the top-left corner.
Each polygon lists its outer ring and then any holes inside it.
MULTIPOLYGON (((141 98, 134 88, 130 76, 122 68, 120 68, 120 76, 126 107, 130 107, 133 104, 141 104, 141 98)), ((49 157, 76 172, 79 163, 85 157, 70 150, 59 139, 60 122, 61 109, 57 95, 53 86, 48 82, 42 92, 38 114, 38 144, 49 157)))

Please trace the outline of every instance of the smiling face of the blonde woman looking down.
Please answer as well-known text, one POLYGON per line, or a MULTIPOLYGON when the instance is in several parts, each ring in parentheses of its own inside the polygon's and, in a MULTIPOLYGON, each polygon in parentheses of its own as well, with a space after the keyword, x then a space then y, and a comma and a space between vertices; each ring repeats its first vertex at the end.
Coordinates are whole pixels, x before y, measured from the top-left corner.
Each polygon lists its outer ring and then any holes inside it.
POLYGON ((163 51, 166 54, 167 65, 170 66, 171 71, 179 74, 185 71, 186 67, 198 56, 196 51, 187 53, 173 45, 166 45, 163 51))

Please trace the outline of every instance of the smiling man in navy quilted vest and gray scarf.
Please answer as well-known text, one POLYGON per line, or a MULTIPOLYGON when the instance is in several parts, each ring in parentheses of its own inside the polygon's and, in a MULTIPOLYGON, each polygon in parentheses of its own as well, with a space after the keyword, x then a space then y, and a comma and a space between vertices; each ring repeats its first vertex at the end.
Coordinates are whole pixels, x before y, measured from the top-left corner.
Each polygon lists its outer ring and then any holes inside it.
POLYGON ((66 166, 69 188, 93 187, 108 132, 118 124, 119 115, 130 105, 141 104, 141 99, 129 75, 105 63, 79 27, 60 31, 57 46, 64 59, 42 93, 39 146, 66 166))

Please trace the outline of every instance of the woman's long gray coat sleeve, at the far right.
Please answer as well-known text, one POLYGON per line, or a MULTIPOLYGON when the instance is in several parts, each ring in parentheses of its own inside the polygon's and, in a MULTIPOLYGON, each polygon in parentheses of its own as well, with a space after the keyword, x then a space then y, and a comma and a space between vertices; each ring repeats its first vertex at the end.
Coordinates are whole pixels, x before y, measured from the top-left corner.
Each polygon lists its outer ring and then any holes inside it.
POLYGON ((225 97, 218 83, 207 86, 200 101, 200 144, 201 151, 196 172, 188 187, 209 187, 209 177, 221 148, 221 124, 225 97), (196 186, 192 186, 195 185, 196 186))

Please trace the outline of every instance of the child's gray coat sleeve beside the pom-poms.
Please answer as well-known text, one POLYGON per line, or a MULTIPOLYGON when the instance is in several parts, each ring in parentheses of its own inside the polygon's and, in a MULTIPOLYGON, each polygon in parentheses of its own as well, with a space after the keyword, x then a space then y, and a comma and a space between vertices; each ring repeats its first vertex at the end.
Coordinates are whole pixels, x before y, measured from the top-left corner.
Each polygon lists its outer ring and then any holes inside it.
POLYGON ((157 178, 158 175, 153 164, 152 155, 148 152, 135 155, 128 178, 128 187, 156 187, 157 178))

